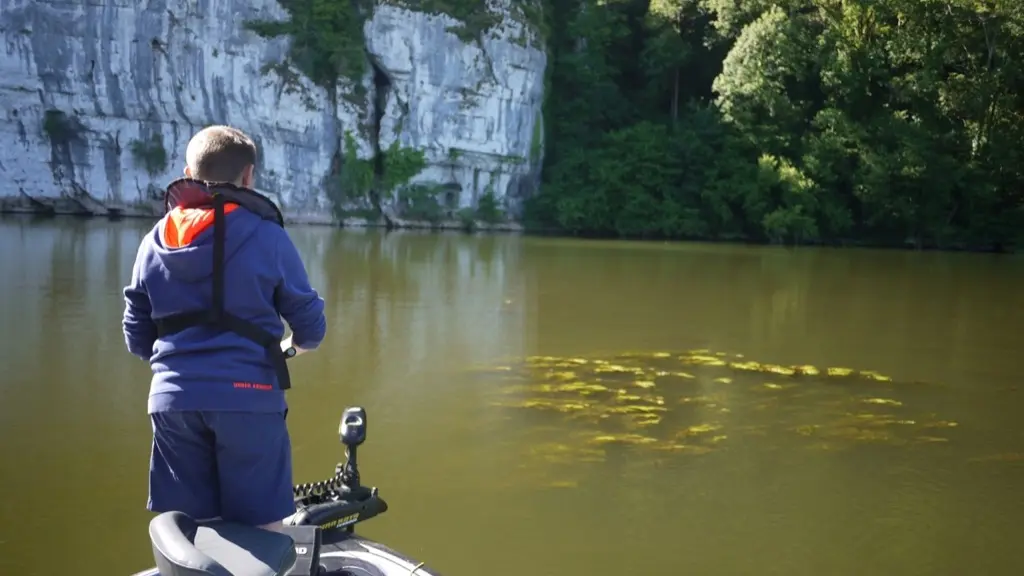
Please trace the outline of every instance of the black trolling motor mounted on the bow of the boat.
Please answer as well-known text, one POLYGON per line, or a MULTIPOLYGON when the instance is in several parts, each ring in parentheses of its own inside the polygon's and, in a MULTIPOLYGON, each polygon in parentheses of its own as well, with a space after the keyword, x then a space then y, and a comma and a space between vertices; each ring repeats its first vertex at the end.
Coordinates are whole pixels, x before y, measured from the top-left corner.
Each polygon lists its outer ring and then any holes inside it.
POLYGON ((343 529, 351 534, 356 523, 387 511, 377 488, 362 486, 359 479, 357 453, 367 441, 367 411, 346 408, 338 437, 345 445, 345 462, 335 466, 329 480, 295 486, 296 512, 289 525, 317 526, 325 533, 343 529))

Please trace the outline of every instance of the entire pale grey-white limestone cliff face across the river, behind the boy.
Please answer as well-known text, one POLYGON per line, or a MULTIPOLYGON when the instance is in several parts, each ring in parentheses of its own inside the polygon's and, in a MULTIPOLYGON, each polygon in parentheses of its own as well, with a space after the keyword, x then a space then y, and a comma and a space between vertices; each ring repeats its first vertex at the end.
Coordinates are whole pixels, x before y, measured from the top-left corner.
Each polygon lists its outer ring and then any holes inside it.
POLYGON ((327 182, 346 132, 364 159, 395 141, 423 151, 411 183, 447 213, 487 193, 514 213, 538 180, 547 61, 505 15, 465 42, 450 16, 377 5, 359 99, 290 67, 290 38, 243 26, 288 19, 272 0, 0 0, 0 209, 153 213, 191 134, 231 124, 257 140, 257 186, 293 221, 345 214, 327 182))

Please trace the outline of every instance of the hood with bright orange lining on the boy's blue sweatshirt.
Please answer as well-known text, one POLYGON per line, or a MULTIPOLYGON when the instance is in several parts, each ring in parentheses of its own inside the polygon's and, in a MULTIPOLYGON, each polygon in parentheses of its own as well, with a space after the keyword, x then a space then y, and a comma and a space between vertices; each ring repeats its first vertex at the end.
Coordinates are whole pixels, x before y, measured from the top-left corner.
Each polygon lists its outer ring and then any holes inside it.
MULTIPOLYGON (((230 261, 263 221, 239 206, 224 205, 224 261, 230 261)), ((213 208, 173 208, 153 232, 154 256, 180 282, 196 283, 213 276, 213 208)))

